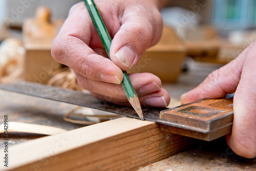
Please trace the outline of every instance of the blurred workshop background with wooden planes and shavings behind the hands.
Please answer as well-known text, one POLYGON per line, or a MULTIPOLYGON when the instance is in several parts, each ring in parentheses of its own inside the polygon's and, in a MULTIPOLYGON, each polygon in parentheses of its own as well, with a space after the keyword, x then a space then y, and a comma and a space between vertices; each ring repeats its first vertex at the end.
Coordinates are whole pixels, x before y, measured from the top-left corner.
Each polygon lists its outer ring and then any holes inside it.
MULTIPOLYGON (((0 82, 27 80, 81 91, 73 72, 55 62, 50 52, 69 9, 78 2, 0 1, 0 82)), ((256 39, 255 0, 172 0, 161 13, 160 42, 129 72, 151 72, 172 85, 183 80, 184 91, 256 39)))

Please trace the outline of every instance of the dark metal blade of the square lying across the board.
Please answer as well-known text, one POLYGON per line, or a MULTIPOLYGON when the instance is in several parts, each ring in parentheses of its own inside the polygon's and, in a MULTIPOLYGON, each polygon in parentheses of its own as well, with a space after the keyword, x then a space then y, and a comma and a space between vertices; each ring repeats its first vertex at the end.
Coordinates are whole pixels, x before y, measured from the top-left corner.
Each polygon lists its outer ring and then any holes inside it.
MULTIPOLYGON (((87 108, 92 108, 100 111, 105 111, 105 112, 110 112, 110 113, 115 113, 119 115, 124 115, 127 117, 140 119, 132 107, 106 102, 104 100, 96 99, 90 94, 85 94, 85 93, 77 92, 70 89, 62 89, 58 87, 47 86, 45 84, 28 82, 28 81, 0 84, 0 89, 9 91, 9 92, 15 92, 15 93, 25 94, 29 96, 34 96, 34 97, 75 104, 75 105, 79 105, 87 108)), ((153 122, 157 122, 157 123, 161 123, 169 126, 180 127, 182 129, 196 131, 203 134, 209 133, 208 130, 186 126, 186 125, 182 126, 172 122, 160 120, 159 119, 160 112, 166 109, 167 108, 165 109, 142 108, 142 112, 145 120, 147 121, 153 121, 153 122)))

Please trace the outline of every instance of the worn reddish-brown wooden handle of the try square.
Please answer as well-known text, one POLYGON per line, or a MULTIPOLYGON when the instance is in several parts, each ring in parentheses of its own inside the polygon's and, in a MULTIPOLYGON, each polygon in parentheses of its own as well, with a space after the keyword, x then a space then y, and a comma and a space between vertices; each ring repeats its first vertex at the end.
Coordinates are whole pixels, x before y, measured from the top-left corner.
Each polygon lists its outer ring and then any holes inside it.
POLYGON ((160 112, 160 119, 175 126, 161 130, 211 141, 231 133, 233 98, 207 99, 160 112))

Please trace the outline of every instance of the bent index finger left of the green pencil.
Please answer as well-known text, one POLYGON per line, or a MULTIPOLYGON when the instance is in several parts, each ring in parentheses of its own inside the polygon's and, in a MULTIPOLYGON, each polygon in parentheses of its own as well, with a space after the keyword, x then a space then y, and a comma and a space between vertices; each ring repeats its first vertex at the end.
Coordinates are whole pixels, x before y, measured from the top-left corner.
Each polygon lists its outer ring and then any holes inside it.
POLYGON ((52 44, 53 58, 93 80, 120 83, 123 75, 105 51, 84 3, 74 5, 52 44), (92 37, 98 39, 91 44, 92 37), (91 47, 89 47, 92 46, 91 47))

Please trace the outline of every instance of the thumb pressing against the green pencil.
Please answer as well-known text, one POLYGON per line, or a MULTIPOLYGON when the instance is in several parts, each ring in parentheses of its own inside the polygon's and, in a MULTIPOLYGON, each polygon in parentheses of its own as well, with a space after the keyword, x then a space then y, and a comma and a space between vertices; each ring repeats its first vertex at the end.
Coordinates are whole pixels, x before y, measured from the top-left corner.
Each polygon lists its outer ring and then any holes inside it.
POLYGON ((124 10, 121 27, 115 34, 110 50, 111 60, 121 69, 131 69, 145 52, 156 44, 162 33, 158 9, 131 6, 124 10))

